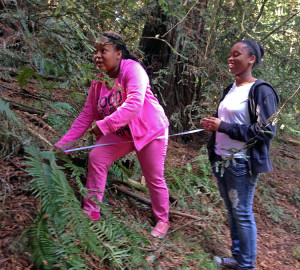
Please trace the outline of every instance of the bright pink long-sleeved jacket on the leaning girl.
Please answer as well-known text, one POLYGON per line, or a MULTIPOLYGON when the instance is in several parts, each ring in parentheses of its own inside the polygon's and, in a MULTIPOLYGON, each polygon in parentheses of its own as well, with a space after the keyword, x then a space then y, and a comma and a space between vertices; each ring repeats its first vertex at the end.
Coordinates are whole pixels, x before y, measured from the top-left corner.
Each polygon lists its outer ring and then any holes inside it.
POLYGON ((104 135, 128 125, 138 151, 164 134, 169 122, 150 90, 149 78, 143 67, 134 60, 122 59, 116 84, 122 88, 122 95, 125 95, 123 104, 111 115, 100 116, 97 101, 102 83, 93 81, 82 112, 56 146, 64 148, 66 144, 78 140, 94 121, 104 135))

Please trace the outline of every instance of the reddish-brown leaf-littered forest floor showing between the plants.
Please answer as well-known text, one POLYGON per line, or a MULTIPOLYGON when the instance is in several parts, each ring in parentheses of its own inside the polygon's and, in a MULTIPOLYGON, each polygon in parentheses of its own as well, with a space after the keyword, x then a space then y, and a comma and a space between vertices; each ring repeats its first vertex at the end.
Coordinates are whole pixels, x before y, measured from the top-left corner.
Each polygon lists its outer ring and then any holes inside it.
MULTIPOLYGON (((33 119, 37 117, 34 112, 28 112, 27 107, 18 104, 32 104, 32 99, 39 96, 34 86, 20 89, 15 82, 0 81, 0 97, 15 102, 13 108, 20 121, 32 130, 35 130, 33 119), (25 112, 27 110, 27 112, 25 112)), ((53 96, 54 98, 54 96, 53 96)), ((64 100, 64 92, 56 93, 56 100, 64 100), (60 98, 59 98, 59 97, 60 98)), ((39 134, 51 141, 49 128, 39 127, 39 134)), ((199 155, 199 149, 205 142, 197 144, 182 144, 173 140, 169 143, 166 170, 172 167, 185 168, 187 162, 194 160, 199 155), (202 144, 202 145, 201 145, 202 144)), ((36 217, 39 202, 31 192, 29 181, 31 177, 25 172, 24 156, 22 149, 17 154, 9 155, 0 160, 0 269, 36 269, 31 261, 30 253, 25 249, 25 239, 22 234, 28 223, 36 217)), ((254 213, 258 228, 258 270, 295 270, 300 269, 300 187, 299 187, 299 142, 285 138, 280 143, 273 143, 271 155, 274 172, 263 175, 257 186, 254 199, 254 213)), ((213 181, 213 179, 211 179, 213 181)), ((114 193, 107 193, 107 198, 112 207, 115 200, 114 193)), ((139 215, 143 221, 151 217, 150 208, 135 211, 127 200, 122 203, 124 211, 139 215), (145 215, 146 213, 146 215, 145 215)), ((142 209, 142 207, 141 207, 142 209)), ((217 211, 217 209, 216 209, 217 211)), ((224 214, 224 211, 222 212, 224 214)), ((190 213, 197 215, 197 212, 190 213)), ((185 262, 181 253, 185 241, 193 237, 203 238, 202 248, 208 254, 229 254, 230 237, 226 219, 220 224, 222 234, 218 239, 206 237, 204 231, 199 229, 196 222, 182 216, 171 216, 171 227, 166 240, 159 241, 149 237, 149 242, 155 252, 155 267, 153 269, 198 269, 192 261, 185 262), (177 242, 178 247, 169 248, 168 239, 176 231, 181 231, 183 241, 177 242), (182 246, 180 246, 182 243, 182 246)), ((205 227, 205 220, 201 221, 205 227)), ((210 221, 211 222, 211 221, 210 221)), ((202 227, 203 227, 202 226, 202 227)), ((147 234, 145 234, 147 236, 147 234)), ((101 268, 99 268, 101 269, 101 268)), ((205 268, 203 268, 205 269, 205 268)))

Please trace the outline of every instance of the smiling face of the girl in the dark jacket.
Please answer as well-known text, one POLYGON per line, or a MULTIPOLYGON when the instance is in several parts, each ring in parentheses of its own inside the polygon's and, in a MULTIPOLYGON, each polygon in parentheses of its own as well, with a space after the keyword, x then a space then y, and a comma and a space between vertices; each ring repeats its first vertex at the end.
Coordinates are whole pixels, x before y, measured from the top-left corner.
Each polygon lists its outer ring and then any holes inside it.
POLYGON ((228 58, 229 72, 234 75, 251 73, 252 66, 255 62, 255 56, 249 56, 249 49, 246 44, 238 42, 230 50, 228 58))

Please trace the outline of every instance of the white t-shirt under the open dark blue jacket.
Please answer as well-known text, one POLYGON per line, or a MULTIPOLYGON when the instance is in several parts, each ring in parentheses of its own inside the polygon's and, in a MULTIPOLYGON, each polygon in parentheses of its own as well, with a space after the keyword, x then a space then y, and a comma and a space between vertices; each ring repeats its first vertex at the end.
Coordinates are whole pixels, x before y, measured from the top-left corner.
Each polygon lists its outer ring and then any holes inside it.
MULTIPOLYGON (((250 124, 248 111, 248 95, 253 83, 243 86, 232 85, 228 94, 222 100, 218 109, 218 117, 227 123, 250 124)), ((215 153, 219 156, 230 156, 232 153, 226 149, 241 149, 245 142, 233 140, 227 134, 222 132, 216 133, 215 153)), ((246 150, 234 154, 235 158, 245 156, 246 150)))

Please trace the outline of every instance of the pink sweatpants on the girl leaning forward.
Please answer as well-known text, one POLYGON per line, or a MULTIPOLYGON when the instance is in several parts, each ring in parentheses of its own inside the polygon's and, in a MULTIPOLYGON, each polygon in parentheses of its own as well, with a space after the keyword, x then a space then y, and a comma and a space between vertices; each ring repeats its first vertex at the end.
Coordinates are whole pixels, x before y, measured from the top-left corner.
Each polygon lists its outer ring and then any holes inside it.
MULTIPOLYGON (((102 202, 107 172, 110 165, 120 157, 135 150, 133 142, 129 137, 116 134, 101 136, 97 144, 117 143, 106 146, 95 147, 89 156, 87 188, 88 197, 96 197, 102 202)), ((164 162, 168 147, 168 130, 161 139, 153 140, 142 150, 136 151, 146 183, 148 185, 152 209, 157 221, 166 222, 169 219, 169 192, 164 179, 164 162)), ((84 198, 84 209, 99 212, 100 207, 93 203, 94 200, 84 198)))

